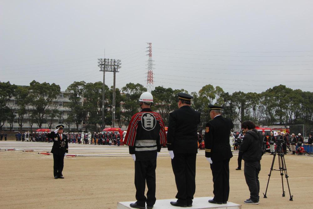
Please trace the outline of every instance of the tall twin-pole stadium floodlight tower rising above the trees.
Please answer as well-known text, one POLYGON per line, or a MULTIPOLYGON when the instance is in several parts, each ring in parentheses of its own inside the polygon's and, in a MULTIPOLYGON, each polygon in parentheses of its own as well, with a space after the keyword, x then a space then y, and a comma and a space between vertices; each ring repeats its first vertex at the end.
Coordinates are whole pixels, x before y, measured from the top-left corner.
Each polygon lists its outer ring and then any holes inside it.
POLYGON ((102 127, 101 130, 105 127, 104 122, 104 100, 105 100, 105 72, 113 72, 113 101, 112 101, 112 128, 115 127, 115 73, 119 72, 118 69, 121 68, 121 60, 115 59, 98 59, 98 67, 100 71, 103 71, 103 86, 102 86, 102 127))

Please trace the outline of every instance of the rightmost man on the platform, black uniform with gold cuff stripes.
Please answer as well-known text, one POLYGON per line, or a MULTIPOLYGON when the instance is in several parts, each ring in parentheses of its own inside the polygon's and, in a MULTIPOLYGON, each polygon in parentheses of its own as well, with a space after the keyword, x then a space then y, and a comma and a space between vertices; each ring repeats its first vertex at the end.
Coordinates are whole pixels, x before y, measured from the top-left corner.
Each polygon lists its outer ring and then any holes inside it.
POLYGON ((229 134, 233 123, 222 117, 222 108, 209 105, 211 121, 205 127, 205 157, 213 175, 214 198, 209 203, 226 204, 229 196, 229 160, 233 154, 229 134))

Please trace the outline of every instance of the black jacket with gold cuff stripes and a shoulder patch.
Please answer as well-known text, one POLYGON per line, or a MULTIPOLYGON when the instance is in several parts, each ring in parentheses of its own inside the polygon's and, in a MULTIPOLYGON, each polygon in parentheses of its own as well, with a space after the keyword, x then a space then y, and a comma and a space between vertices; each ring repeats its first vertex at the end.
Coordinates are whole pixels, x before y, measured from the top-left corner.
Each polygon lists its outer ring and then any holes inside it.
POLYGON ((214 161, 221 161, 233 157, 229 144, 230 130, 233 123, 229 118, 216 116, 206 124, 205 128, 205 156, 214 161))

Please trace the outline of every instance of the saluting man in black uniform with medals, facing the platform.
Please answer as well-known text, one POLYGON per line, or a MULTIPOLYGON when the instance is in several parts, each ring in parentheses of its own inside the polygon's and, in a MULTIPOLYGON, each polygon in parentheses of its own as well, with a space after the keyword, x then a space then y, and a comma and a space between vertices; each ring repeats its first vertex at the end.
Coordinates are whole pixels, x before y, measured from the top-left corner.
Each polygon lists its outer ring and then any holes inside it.
POLYGON ((62 171, 64 166, 64 155, 69 152, 67 136, 63 134, 64 125, 58 125, 55 131, 47 134, 53 140, 51 153, 53 153, 53 175, 54 179, 64 179, 62 171))

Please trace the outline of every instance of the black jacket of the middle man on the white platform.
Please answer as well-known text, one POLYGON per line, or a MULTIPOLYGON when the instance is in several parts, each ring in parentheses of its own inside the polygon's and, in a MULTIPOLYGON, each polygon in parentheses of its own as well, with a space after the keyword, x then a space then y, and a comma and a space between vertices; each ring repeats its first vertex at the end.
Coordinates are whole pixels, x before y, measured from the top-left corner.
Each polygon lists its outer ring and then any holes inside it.
POLYGON ((193 110, 188 105, 171 112, 167 130, 167 149, 173 150, 174 154, 198 153, 197 130, 199 123, 200 112, 193 110))

